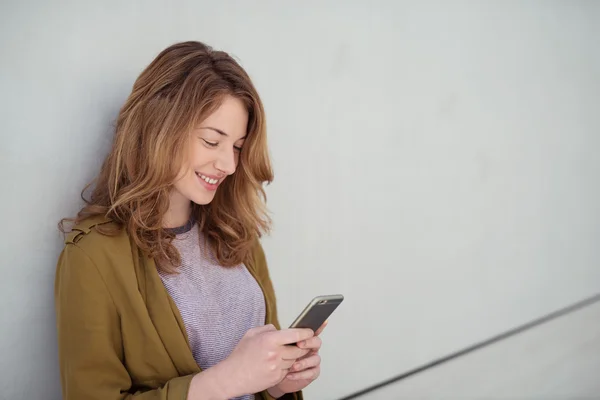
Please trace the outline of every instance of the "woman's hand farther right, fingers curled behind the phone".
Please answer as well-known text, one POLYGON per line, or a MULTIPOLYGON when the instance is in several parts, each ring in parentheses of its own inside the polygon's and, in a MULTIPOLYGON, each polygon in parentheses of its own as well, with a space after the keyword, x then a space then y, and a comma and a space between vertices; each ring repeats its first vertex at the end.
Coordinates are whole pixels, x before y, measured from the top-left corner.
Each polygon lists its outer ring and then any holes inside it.
POLYGON ((297 392, 310 385, 319 377, 321 374, 321 356, 319 356, 319 350, 321 349, 322 344, 319 335, 326 326, 327 321, 325 321, 325 323, 317 330, 315 336, 298 343, 299 348, 308 349, 310 351, 292 364, 285 379, 274 387, 269 388, 268 391, 271 396, 278 398, 286 393, 297 392))

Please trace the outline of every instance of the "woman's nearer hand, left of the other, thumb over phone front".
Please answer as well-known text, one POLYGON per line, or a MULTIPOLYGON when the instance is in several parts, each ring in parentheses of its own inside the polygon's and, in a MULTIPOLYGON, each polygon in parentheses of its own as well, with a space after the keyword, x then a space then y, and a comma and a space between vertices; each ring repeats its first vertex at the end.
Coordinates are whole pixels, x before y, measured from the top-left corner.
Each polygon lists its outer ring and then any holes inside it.
POLYGON ((225 397, 258 393, 277 385, 294 362, 310 352, 309 348, 287 345, 313 336, 310 329, 278 331, 273 325, 250 329, 229 357, 214 367, 222 372, 219 376, 228 392, 225 397))

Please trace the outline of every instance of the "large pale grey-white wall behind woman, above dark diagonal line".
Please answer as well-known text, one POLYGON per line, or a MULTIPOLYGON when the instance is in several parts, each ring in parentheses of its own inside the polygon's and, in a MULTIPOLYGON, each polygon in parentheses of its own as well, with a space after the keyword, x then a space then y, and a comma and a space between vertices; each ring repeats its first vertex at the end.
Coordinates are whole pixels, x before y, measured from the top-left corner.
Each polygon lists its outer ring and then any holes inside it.
POLYGON ((58 219, 137 74, 201 40, 268 112, 281 319, 347 300, 335 399, 600 290, 594 2, 3 2, 0 397, 58 399, 58 219))

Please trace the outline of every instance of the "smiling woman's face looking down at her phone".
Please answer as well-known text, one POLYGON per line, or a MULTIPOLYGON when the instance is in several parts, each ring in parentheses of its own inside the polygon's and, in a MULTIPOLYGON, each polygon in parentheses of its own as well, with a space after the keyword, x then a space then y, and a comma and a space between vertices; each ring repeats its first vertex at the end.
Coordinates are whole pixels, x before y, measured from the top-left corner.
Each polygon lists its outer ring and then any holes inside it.
POLYGON ((187 159, 174 184, 171 202, 186 207, 190 201, 210 203, 223 180, 235 172, 247 127, 244 103, 225 97, 221 106, 191 132, 187 159))

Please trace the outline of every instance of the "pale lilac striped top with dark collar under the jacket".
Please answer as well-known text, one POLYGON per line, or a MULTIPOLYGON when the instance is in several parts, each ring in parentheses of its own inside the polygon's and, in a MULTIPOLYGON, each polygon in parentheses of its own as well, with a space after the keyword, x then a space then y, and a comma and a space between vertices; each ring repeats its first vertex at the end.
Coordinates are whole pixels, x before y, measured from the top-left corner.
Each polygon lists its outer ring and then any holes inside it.
POLYGON ((205 370, 227 358, 249 329, 264 325, 264 296, 245 265, 219 264, 194 222, 172 231, 182 261, 179 274, 159 275, 179 309, 194 359, 205 370))

